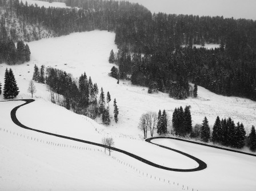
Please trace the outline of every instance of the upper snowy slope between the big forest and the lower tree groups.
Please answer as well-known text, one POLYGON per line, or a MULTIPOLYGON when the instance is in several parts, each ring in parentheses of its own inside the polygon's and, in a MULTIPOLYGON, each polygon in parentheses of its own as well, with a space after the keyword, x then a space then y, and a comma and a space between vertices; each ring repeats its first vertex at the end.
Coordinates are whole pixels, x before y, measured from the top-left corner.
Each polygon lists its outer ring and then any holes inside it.
MULTIPOLYGON (((91 31, 74 33, 58 38, 43 39, 30 42, 31 61, 19 66, 0 66, 0 82, 3 82, 4 70, 11 67, 17 78, 18 86, 22 94, 27 93, 29 80, 33 75, 34 64, 46 67, 51 66, 70 72, 74 78, 86 72, 91 76, 93 83, 103 87, 105 93, 110 92, 110 112, 113 113, 113 100, 117 99, 119 107, 119 121, 114 123, 112 119, 109 129, 114 132, 121 132, 125 135, 138 136, 141 132, 137 129, 139 117, 147 111, 158 112, 159 109, 166 109, 170 118, 175 107, 191 105, 193 124, 201 124, 203 117, 209 119, 210 125, 214 124, 217 116, 232 117, 237 123, 242 122, 246 129, 255 125, 256 104, 255 101, 239 97, 226 97, 216 95, 205 88, 198 87, 198 98, 186 100, 175 100, 159 92, 158 94, 147 94, 147 88, 132 86, 129 81, 111 78, 108 73, 114 64, 107 62, 110 50, 117 51, 114 44, 115 34, 107 31, 91 31), (66 64, 66 65, 65 65, 66 64), (139 105, 139 107, 138 107, 139 105)), ((36 96, 49 99, 49 92, 42 84, 36 84, 36 96)), ((113 116, 113 115, 112 115, 113 116)), ((100 121, 99 121, 100 122, 100 121)))

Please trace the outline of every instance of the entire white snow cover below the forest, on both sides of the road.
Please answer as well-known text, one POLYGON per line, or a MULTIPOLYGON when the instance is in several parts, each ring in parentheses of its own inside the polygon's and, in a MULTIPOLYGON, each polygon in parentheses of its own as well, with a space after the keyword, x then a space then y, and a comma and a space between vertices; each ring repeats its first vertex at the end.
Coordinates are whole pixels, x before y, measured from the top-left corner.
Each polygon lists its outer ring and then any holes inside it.
MULTIPOLYGON (((30 42, 31 61, 17 66, 0 64, 0 82, 3 84, 5 68, 11 67, 21 91, 18 99, 24 99, 30 97, 27 87, 33 75, 34 64, 38 66, 44 64, 46 67, 65 70, 73 74, 74 78, 86 72, 87 76, 91 76, 93 83, 97 83, 99 88, 103 87, 105 93, 110 92, 111 113, 113 113, 113 100, 117 99, 119 108, 117 124, 112 119, 109 127, 105 127, 51 104, 46 86, 38 83, 35 83, 37 88, 35 96, 39 99, 18 109, 17 117, 21 123, 31 128, 97 143, 100 143, 104 136, 112 136, 117 148, 145 157, 160 165, 183 169, 194 168, 197 164, 177 153, 138 139, 142 135, 137 129, 142 113, 158 112, 159 109, 165 108, 171 117, 175 107, 191 105, 193 124, 201 123, 203 117, 207 116, 210 124, 213 125, 215 117, 219 115, 232 117, 235 122, 241 121, 246 128, 255 125, 256 104, 248 99, 219 96, 199 87, 198 99, 175 100, 163 93, 149 95, 147 88, 132 86, 129 81, 121 80, 117 84, 117 80, 108 76, 114 65, 107 62, 110 50, 117 51, 114 36, 115 34, 111 32, 91 31, 30 42)), ((3 99, 2 95, 0 99, 3 99)), ((75 150, 52 145, 50 147, 36 140, 31 141, 31 137, 36 137, 43 141, 94 149, 90 145, 41 135, 17 127, 10 120, 10 111, 21 103, 22 101, 0 102, 0 127, 11 131, 10 134, 0 131, 0 190, 33 188, 39 190, 41 188, 42 190, 61 190, 62 188, 67 190, 69 188, 177 190, 182 189, 183 185, 185 188, 189 186, 189 190, 192 188, 194 190, 254 190, 256 188, 256 182, 251 178, 256 175, 255 157, 201 145, 181 141, 161 141, 161 144, 189 153, 207 164, 205 170, 182 173, 153 168, 117 152, 113 152, 112 155, 125 162, 125 165, 107 157, 103 152, 88 152, 83 149, 75 150), (14 136, 12 132, 18 133, 18 136, 14 136), (20 134, 22 136, 19 136, 20 134), (26 139, 26 137, 29 138, 26 139), (126 164, 135 166, 138 171, 129 168, 126 164), (147 177, 146 173, 153 176, 153 180, 147 177), (158 178, 161 178, 161 181, 158 178), (175 182, 175 186, 167 184, 167 180, 170 180, 172 185, 175 182)))

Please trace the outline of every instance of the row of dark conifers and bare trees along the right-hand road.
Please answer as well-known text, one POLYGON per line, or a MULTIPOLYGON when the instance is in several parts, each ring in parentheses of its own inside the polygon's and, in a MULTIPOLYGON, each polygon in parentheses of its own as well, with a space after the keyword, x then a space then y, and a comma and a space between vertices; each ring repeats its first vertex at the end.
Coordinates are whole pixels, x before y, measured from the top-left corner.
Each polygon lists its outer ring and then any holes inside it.
POLYGON ((242 123, 234 124, 234 121, 228 119, 219 119, 217 116, 211 132, 209 121, 205 117, 202 124, 192 126, 190 106, 185 109, 178 107, 174 109, 171 122, 169 121, 165 109, 163 112, 143 113, 139 119, 138 129, 143 132, 143 136, 147 138, 147 132, 150 131, 151 137, 157 131, 158 135, 167 133, 167 126, 172 123, 173 131, 178 136, 190 136, 193 139, 199 138, 201 141, 212 141, 214 144, 221 144, 226 147, 241 149, 245 145, 253 152, 256 151, 256 133, 255 127, 251 127, 249 136, 246 136, 245 127, 242 123))

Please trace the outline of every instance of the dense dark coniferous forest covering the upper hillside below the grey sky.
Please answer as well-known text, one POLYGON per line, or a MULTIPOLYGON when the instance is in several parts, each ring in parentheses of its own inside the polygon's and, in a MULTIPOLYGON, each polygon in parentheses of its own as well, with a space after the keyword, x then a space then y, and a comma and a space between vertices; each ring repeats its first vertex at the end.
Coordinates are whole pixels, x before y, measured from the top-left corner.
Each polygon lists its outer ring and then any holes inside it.
MULTIPOLYGON (((0 1, 0 7, 14 11, 23 25, 44 27, 55 36, 91 30, 114 31, 119 48, 115 59, 119 78, 130 75, 133 84, 185 99, 190 96, 188 82, 193 82, 216 94, 256 100, 255 21, 152 14, 141 5, 125 1, 67 0, 66 5, 82 9, 0 1), (215 50, 193 48, 193 44, 205 43, 221 45, 215 50)), ((15 28, 5 29, 4 19, 0 30, 1 39, 17 33, 15 28)))

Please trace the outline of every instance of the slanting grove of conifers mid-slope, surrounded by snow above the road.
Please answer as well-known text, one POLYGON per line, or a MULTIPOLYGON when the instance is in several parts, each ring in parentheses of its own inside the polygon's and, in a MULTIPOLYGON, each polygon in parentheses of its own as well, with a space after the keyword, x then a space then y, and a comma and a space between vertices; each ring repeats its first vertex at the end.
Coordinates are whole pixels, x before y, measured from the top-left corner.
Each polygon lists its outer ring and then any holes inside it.
MULTIPOLYGON (((102 115, 102 122, 104 124, 110 123, 110 93, 107 92, 105 100, 105 93, 101 88, 98 100, 98 86, 97 83, 93 84, 91 77, 88 79, 84 73, 77 82, 71 74, 48 67, 45 79, 51 92, 51 101, 53 103, 57 102, 57 104, 63 105, 67 109, 72 108, 75 113, 86 115, 93 119, 102 115), (106 107, 106 103, 108 107, 106 107)), ((118 121, 118 113, 117 101, 114 99, 114 120, 116 123, 118 121)))

